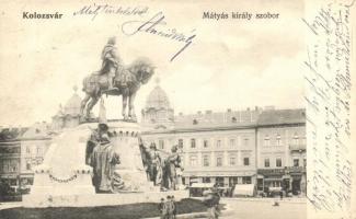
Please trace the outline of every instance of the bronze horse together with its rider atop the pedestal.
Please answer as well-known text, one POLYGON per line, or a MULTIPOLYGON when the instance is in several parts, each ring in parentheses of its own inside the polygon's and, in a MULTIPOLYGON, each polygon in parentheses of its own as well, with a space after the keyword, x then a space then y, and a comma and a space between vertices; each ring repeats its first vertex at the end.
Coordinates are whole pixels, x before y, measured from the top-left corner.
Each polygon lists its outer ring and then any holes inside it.
POLYGON ((124 120, 136 122, 134 101, 141 84, 146 84, 154 73, 154 67, 148 58, 137 58, 125 66, 117 54, 116 38, 111 37, 102 50, 102 67, 83 80, 85 97, 81 102, 82 119, 89 120, 91 110, 102 94, 122 95, 124 120), (126 107, 128 103, 128 114, 126 107), (85 111, 85 114, 84 114, 85 111))

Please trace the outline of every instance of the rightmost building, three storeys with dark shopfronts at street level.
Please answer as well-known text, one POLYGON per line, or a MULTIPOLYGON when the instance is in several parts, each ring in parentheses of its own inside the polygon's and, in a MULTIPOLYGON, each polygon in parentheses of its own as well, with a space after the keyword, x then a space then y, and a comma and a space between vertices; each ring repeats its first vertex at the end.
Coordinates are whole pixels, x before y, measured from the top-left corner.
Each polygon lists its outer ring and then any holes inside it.
POLYGON ((263 111, 257 123, 257 187, 306 193, 305 110, 263 111))

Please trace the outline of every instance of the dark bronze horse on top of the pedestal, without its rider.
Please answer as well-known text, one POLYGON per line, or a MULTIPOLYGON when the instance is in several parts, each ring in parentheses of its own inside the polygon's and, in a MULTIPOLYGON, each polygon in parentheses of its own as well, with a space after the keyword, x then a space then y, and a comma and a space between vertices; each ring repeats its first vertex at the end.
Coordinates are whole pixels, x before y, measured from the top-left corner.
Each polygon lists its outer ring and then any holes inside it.
POLYGON ((97 103, 102 94, 107 95, 123 95, 123 112, 122 115, 125 120, 131 119, 136 122, 134 101, 136 92, 141 84, 146 84, 154 73, 154 67, 147 58, 138 58, 127 68, 123 69, 126 73, 125 84, 120 83, 118 70, 115 72, 114 90, 108 89, 107 74, 91 73, 83 80, 83 91, 85 97, 81 102, 80 113, 85 119, 90 119, 90 112, 97 103), (90 102, 89 102, 90 101, 90 102), (88 103, 89 102, 89 103, 88 103), (126 107, 128 102, 128 116, 126 115, 126 107), (84 110, 85 115, 84 115, 84 110))

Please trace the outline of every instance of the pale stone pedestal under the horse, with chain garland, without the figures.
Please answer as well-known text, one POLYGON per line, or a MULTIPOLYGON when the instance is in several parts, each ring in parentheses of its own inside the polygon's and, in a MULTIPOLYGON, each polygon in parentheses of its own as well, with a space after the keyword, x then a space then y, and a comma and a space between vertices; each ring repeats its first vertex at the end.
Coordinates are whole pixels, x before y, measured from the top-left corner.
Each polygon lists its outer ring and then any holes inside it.
POLYGON ((118 205, 119 201, 123 204, 126 201, 122 195, 134 198, 130 201, 135 199, 143 201, 150 198, 142 194, 160 194, 159 188, 148 181, 143 170, 138 139, 139 125, 125 122, 107 125, 114 135, 111 137, 113 150, 120 158, 120 164, 115 172, 124 180, 125 189, 119 193, 125 194, 95 194, 92 185, 92 168, 85 165, 85 150, 92 130, 97 124, 82 124, 66 129, 54 138, 43 164, 35 169, 31 193, 23 196, 24 207, 87 206, 85 198, 93 199, 89 201, 90 206, 101 205, 101 200, 105 200, 103 205, 110 205, 106 199, 111 197, 116 197, 114 204, 118 205), (131 195, 128 196, 128 193, 131 195))

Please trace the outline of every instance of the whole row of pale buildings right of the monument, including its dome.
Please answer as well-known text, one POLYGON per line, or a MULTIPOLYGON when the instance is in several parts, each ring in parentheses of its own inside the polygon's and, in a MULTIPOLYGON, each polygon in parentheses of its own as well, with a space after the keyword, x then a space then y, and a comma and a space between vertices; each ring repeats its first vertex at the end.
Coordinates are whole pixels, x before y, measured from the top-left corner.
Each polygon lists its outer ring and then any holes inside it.
POLYGON ((165 92, 156 87, 142 110, 142 139, 163 151, 180 147, 186 185, 255 184, 260 191, 284 187, 305 193, 305 110, 269 106, 173 115, 165 92))

